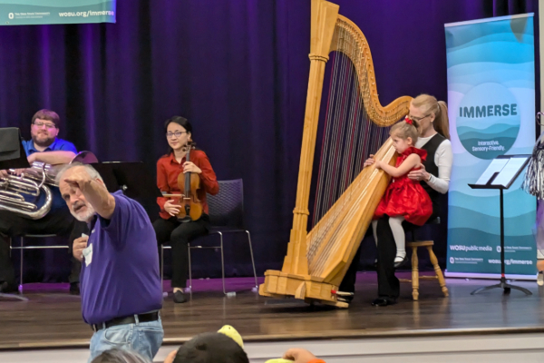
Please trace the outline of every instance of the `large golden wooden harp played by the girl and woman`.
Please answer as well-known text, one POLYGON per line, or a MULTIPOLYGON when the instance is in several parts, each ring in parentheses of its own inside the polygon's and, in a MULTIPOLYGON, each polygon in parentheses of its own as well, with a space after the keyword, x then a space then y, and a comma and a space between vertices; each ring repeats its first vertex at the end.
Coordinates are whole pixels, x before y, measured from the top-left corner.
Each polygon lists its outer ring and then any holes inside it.
POLYGON ((345 307, 336 299, 338 286, 389 182, 384 172, 363 169, 363 162, 370 153, 377 160, 393 162, 388 126, 408 113, 412 97, 380 104, 364 34, 338 15, 338 9, 325 0, 312 0, 310 77, 293 229, 282 270, 267 270, 259 293, 345 307), (331 80, 320 123, 327 62, 332 63, 332 69, 327 69, 331 80), (318 130, 321 145, 316 145, 318 130), (321 157, 318 164, 316 150, 321 157), (318 171, 313 173, 315 165, 318 171), (314 225, 308 232, 311 193, 316 197, 314 225))

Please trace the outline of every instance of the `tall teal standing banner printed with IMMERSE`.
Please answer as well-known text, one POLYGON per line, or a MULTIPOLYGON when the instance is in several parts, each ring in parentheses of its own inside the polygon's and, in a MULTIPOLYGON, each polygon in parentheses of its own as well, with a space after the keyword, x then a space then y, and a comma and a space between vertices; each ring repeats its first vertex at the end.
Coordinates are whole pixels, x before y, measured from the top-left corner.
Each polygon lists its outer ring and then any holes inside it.
MULTIPOLYGON (((535 137, 533 15, 445 25, 453 150, 446 275, 500 274, 498 190, 473 190, 492 159, 530 154, 535 137)), ((504 191, 505 265, 510 276, 536 273, 535 197, 504 191)))

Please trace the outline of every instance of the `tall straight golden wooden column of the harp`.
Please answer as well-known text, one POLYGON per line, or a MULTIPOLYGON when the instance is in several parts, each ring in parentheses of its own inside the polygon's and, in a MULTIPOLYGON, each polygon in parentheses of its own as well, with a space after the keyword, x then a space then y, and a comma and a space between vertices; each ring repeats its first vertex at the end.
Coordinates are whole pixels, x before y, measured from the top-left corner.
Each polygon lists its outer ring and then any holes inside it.
POLYGON ((308 221, 308 200, 312 181, 312 166, 316 151, 317 123, 323 92, 325 64, 328 61, 339 6, 324 0, 312 0, 312 27, 310 42, 310 76, 306 96, 304 132, 298 169, 296 205, 293 211, 293 229, 287 247, 282 272, 296 275, 308 274, 306 259, 306 234, 308 221))

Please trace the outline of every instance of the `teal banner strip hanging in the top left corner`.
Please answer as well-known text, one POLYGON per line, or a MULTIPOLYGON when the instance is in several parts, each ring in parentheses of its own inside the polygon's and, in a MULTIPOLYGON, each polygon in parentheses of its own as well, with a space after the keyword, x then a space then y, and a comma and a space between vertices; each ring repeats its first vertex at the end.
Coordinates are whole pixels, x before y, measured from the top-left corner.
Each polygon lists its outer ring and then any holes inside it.
POLYGON ((0 0, 0 25, 115 23, 117 0, 0 0))

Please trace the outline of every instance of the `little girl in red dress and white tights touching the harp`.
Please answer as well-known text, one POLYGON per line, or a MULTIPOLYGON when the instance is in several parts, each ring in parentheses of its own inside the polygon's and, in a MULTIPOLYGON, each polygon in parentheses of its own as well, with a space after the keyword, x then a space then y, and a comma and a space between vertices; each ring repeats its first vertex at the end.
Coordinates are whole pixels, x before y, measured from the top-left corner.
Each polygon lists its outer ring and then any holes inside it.
MULTIPOLYGON (((398 156, 394 166, 387 162, 374 162, 377 169, 382 169, 392 176, 391 183, 374 212, 374 220, 385 214, 389 216, 389 225, 397 247, 394 263, 395 267, 398 267, 406 258, 403 221, 423 226, 431 217, 432 201, 420 182, 413 181, 407 176, 408 172, 419 169, 427 158, 427 152, 413 147, 418 138, 417 125, 406 117, 403 122, 395 123, 389 134, 398 156)), ((373 221, 374 231, 376 223, 377 221, 373 221)))

